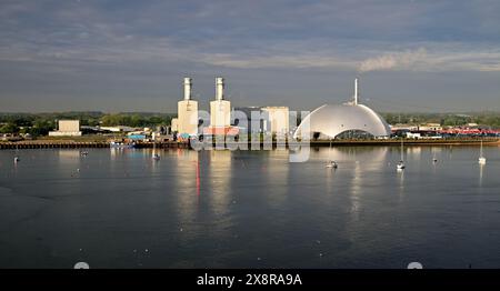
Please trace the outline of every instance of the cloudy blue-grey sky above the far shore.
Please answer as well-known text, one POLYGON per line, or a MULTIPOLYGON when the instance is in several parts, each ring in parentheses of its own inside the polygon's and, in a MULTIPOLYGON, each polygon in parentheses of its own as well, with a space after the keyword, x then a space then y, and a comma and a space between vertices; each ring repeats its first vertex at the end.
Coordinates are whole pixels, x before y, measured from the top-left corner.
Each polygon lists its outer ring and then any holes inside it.
POLYGON ((1 0, 0 112, 500 111, 500 1, 1 0))

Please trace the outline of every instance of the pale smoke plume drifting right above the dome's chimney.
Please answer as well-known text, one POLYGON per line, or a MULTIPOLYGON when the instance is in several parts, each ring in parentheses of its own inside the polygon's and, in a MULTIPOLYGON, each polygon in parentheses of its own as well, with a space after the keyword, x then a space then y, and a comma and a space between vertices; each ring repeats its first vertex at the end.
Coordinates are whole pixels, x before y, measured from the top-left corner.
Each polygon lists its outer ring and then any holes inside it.
POLYGON ((370 58, 361 62, 360 72, 386 71, 397 69, 412 69, 420 61, 424 61, 427 51, 420 48, 414 51, 394 52, 370 58))

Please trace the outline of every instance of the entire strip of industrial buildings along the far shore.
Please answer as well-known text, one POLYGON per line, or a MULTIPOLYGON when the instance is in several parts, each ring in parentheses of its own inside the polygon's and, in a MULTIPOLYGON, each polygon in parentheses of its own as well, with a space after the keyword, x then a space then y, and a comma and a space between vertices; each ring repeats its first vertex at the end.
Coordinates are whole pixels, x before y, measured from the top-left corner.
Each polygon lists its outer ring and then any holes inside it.
MULTIPOLYGON (((361 102, 359 79, 354 79, 353 96, 344 103, 326 103, 307 116, 297 116, 288 107, 240 107, 228 100, 226 80, 214 78, 214 97, 209 111, 193 100, 192 78, 182 82, 183 97, 178 101, 177 117, 170 124, 137 128, 126 124, 80 126, 80 120, 57 120, 57 130, 49 137, 108 136, 113 142, 189 142, 191 139, 217 140, 383 140, 391 137, 413 140, 443 138, 500 137, 494 128, 477 123, 444 127, 440 123, 404 124, 388 122, 373 109, 361 102), (300 124, 298 122, 300 121, 300 124)), ((158 123, 157 123, 158 124, 158 123)), ((29 134, 3 133, 3 141, 30 139, 29 134)), ((113 143, 116 144, 116 143, 113 143)))

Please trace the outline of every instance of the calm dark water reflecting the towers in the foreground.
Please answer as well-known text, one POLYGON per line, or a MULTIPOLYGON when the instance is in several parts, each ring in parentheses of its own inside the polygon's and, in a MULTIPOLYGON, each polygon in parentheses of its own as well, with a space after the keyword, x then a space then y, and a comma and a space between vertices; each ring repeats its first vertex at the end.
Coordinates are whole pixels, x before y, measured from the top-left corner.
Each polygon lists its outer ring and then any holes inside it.
POLYGON ((398 147, 0 151, 0 268, 500 268, 484 152, 408 148, 398 173, 398 147))

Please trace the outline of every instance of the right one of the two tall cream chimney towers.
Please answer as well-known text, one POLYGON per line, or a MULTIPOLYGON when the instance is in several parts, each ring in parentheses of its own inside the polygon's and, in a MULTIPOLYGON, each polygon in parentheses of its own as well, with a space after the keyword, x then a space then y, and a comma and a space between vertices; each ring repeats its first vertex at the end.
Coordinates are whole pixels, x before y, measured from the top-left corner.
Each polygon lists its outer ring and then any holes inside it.
POLYGON ((210 126, 226 128, 231 126, 231 102, 224 100, 224 79, 216 78, 216 100, 210 102, 210 126))

